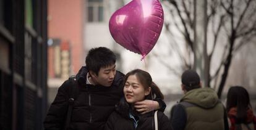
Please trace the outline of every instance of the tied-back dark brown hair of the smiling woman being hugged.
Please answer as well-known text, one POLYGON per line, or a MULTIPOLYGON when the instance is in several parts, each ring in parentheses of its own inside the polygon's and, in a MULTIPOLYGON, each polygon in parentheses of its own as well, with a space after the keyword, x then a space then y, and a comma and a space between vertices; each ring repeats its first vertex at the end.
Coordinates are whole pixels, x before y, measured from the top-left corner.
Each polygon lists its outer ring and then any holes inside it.
MULTIPOLYGON (((135 69, 135 70, 129 71, 126 74, 126 76, 124 76, 124 83, 126 83, 128 77, 130 75, 135 75, 139 79, 140 83, 142 84, 142 86, 145 89, 148 89, 149 87, 151 87, 151 94, 156 95, 156 98, 162 99, 162 100, 164 99, 164 95, 160 91, 159 87, 152 81, 152 78, 151 78, 150 74, 147 71, 143 71, 143 70, 140 70, 140 69, 135 69)), ((152 100, 153 99, 152 95, 150 95, 150 94, 147 95, 145 97, 145 99, 152 100)))

